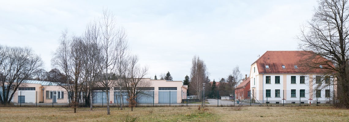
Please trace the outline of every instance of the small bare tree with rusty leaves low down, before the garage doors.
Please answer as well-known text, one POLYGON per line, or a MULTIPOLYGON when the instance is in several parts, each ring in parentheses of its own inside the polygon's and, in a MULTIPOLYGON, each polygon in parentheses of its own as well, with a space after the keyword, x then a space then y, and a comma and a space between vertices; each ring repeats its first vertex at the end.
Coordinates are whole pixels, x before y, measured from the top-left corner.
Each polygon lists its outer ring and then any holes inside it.
POLYGON ((132 56, 125 63, 127 64, 126 72, 121 76, 121 79, 124 82, 124 88, 126 88, 129 107, 131 107, 131 111, 133 111, 133 107, 136 106, 136 98, 138 95, 143 94, 144 87, 150 87, 151 83, 144 80, 144 76, 148 72, 148 68, 140 68, 137 65, 138 58, 137 56, 132 56))

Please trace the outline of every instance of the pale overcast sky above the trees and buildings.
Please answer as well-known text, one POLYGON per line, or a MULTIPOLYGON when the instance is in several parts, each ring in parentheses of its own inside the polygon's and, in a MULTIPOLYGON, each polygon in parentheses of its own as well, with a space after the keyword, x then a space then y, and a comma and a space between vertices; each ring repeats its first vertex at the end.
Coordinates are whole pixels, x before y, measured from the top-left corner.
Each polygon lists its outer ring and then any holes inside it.
POLYGON ((297 35, 311 20, 316 0, 1 0, 0 44, 30 47, 51 70, 62 31, 81 35, 109 9, 127 32, 132 54, 147 78, 170 72, 190 76, 196 55, 209 79, 227 78, 266 51, 299 50, 297 35))

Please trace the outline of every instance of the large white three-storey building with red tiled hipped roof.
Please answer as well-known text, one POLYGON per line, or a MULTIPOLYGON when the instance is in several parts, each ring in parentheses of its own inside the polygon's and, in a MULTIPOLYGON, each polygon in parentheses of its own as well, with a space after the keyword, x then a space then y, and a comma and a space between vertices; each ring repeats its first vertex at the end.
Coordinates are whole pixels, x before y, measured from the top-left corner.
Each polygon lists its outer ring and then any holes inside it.
POLYGON ((309 70, 298 65, 301 59, 306 59, 302 55, 304 53, 307 52, 267 51, 259 57, 251 65, 252 99, 255 102, 273 104, 316 104, 316 101, 326 103, 332 100, 335 93, 333 85, 322 89, 317 89, 317 86, 333 83, 333 79, 323 75, 325 69, 309 70))

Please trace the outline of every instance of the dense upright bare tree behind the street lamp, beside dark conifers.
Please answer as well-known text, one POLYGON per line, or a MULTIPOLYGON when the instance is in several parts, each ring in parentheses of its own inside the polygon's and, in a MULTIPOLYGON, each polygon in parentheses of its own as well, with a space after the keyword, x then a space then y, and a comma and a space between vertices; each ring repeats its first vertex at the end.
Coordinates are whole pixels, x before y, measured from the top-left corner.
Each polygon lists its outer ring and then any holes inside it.
POLYGON ((190 73, 190 88, 194 94, 198 95, 200 99, 200 93, 202 91, 202 83, 204 83, 207 76, 206 64, 199 56, 194 56, 192 59, 192 68, 190 73))

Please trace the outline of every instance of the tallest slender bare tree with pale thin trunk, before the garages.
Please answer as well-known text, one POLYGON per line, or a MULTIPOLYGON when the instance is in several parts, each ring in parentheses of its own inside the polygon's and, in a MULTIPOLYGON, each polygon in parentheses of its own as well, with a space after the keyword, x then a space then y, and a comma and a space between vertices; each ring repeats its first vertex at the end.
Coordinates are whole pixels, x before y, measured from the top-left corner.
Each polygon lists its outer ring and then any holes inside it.
MULTIPOLYGON (((116 19, 109 10, 103 10, 100 25, 100 40, 102 47, 103 63, 102 74, 105 74, 102 82, 98 83, 105 88, 106 100, 109 101, 109 88, 115 86, 116 80, 110 80, 110 73, 117 67, 120 55, 127 49, 126 34, 123 29, 116 29, 116 19)), ((110 115, 109 102, 107 102, 107 114, 110 115)))

